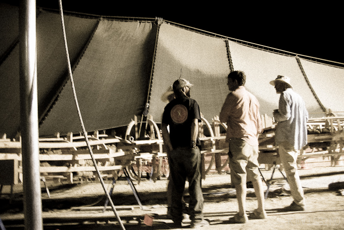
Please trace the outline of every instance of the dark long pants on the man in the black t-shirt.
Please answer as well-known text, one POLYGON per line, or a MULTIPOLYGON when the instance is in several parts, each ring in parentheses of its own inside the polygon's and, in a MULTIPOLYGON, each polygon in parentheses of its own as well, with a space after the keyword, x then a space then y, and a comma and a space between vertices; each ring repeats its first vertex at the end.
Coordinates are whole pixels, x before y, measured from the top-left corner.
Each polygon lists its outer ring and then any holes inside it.
POLYGON ((189 215, 194 222, 203 220, 203 193, 201 185, 201 153, 195 149, 177 148, 169 153, 168 163, 172 177, 171 215, 174 222, 183 219, 183 193, 186 178, 189 181, 189 215))

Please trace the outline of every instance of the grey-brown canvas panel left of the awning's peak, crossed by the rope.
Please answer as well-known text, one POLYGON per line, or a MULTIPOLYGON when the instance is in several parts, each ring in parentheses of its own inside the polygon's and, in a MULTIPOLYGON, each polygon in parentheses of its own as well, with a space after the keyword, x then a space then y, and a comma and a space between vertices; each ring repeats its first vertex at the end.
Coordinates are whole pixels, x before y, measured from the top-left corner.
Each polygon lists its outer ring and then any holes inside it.
MULTIPOLYGON (((102 20, 73 77, 87 131, 128 125, 147 98, 156 29, 152 23, 102 20)), ((81 126, 68 81, 40 135, 79 132, 81 126)))

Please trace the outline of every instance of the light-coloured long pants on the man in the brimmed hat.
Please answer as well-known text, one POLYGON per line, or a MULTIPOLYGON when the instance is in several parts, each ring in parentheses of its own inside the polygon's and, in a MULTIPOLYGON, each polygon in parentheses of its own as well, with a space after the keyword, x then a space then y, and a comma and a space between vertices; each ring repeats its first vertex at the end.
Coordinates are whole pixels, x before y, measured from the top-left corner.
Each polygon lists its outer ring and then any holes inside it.
POLYGON ((279 144, 278 153, 280 155, 284 170, 287 174, 291 196, 294 199, 294 202, 298 205, 305 205, 303 189, 297 172, 296 163, 299 150, 295 150, 294 147, 288 142, 283 142, 279 144))

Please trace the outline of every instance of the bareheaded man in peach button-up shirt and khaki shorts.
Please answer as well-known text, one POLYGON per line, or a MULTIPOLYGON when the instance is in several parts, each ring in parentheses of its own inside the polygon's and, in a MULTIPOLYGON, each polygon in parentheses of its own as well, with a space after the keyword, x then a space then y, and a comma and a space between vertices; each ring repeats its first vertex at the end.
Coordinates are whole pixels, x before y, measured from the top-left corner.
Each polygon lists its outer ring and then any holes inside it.
POLYGON ((244 72, 233 71, 227 80, 230 93, 223 103, 219 118, 228 127, 226 141, 229 142, 231 184, 235 185, 239 207, 238 213, 229 221, 245 223, 248 220, 245 206, 247 180, 252 181, 258 201, 258 208, 250 213, 250 217, 266 218, 263 184, 258 168, 258 135, 263 131, 262 120, 257 98, 244 87, 244 72))

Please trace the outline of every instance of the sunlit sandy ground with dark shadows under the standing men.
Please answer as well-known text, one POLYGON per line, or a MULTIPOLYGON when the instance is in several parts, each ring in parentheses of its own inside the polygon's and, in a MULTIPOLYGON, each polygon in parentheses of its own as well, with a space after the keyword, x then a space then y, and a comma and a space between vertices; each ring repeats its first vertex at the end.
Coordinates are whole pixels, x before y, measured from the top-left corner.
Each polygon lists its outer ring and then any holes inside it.
MULTIPOLYGON (((264 178, 270 179, 271 170, 261 169, 264 178)), ((283 171, 282 171, 283 172, 283 171)), ((342 230, 344 229, 344 196, 338 191, 344 181, 344 167, 315 167, 299 170, 304 188, 307 210, 283 212, 282 207, 291 204, 288 184, 276 170, 274 180, 265 200, 267 219, 249 220, 246 224, 229 224, 228 219, 238 211, 236 191, 231 188, 230 175, 223 173, 207 175, 202 180, 205 198, 204 214, 210 225, 205 230, 342 230), (330 189, 329 189, 330 185, 330 189), (332 188, 333 185, 337 187, 332 188)), ((109 191, 112 180, 106 180, 109 191)), ((141 202, 138 205, 131 186, 125 178, 119 178, 114 185, 111 198, 115 211, 107 206, 106 196, 99 181, 76 184, 49 183, 51 197, 47 196, 42 184, 43 222, 45 230, 164 230, 173 229, 172 221, 166 217, 166 187, 168 180, 141 179, 134 182, 141 202), (116 218, 115 212, 120 220, 116 218), (153 217, 152 226, 144 221, 147 215, 153 217)), ((186 184, 187 187, 187 184, 186 184)), ((266 190, 265 185, 265 190, 266 190)), ((187 201, 187 189, 185 200, 187 201)), ((14 186, 10 197, 10 186, 4 186, 0 197, 0 218, 6 230, 24 229, 22 185, 14 186)), ((257 206, 254 190, 248 188, 247 210, 257 206)), ((149 219, 149 218, 148 218, 149 219)), ((183 223, 188 228, 189 220, 183 223)))

